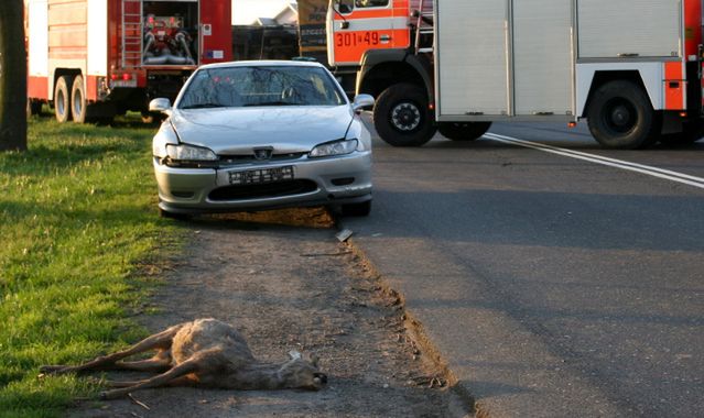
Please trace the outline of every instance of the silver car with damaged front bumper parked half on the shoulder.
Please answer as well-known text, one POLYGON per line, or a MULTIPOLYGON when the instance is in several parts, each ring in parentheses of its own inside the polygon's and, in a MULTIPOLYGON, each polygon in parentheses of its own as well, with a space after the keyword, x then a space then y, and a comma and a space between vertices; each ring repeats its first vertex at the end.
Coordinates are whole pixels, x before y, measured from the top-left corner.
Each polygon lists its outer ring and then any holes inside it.
POLYGON ((318 206, 367 216, 371 139, 317 63, 238 62, 198 68, 153 140, 163 216, 318 206))

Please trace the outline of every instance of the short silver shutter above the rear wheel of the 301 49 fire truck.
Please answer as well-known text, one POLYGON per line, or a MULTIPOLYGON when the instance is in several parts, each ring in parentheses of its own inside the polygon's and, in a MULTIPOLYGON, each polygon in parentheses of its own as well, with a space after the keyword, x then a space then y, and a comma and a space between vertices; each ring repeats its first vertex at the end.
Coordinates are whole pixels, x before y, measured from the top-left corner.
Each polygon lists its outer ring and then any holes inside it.
POLYGON ((680 0, 580 0, 580 58, 681 56, 680 0))

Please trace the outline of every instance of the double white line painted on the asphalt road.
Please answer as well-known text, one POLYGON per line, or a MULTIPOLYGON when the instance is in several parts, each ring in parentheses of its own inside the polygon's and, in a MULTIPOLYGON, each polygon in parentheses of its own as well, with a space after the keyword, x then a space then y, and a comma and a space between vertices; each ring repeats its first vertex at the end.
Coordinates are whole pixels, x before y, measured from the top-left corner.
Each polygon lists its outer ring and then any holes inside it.
POLYGON ((627 161, 583 153, 580 151, 561 148, 557 146, 540 144, 537 142, 523 141, 517 138, 499 135, 496 133, 486 133, 484 136, 492 141, 498 141, 506 144, 513 144, 513 145, 524 146, 528 148, 539 150, 546 153, 557 154, 557 155, 562 155, 562 156, 566 156, 571 158, 588 161, 595 164, 602 164, 602 165, 607 165, 609 167, 616 167, 616 168, 627 169, 630 172, 641 173, 649 176, 663 178, 667 180, 676 182, 684 185, 694 186, 694 187, 704 189, 704 178, 690 176, 689 174, 684 174, 684 173, 678 173, 678 172, 672 172, 670 169, 658 168, 658 167, 653 167, 649 165, 636 164, 636 163, 630 163, 627 161))

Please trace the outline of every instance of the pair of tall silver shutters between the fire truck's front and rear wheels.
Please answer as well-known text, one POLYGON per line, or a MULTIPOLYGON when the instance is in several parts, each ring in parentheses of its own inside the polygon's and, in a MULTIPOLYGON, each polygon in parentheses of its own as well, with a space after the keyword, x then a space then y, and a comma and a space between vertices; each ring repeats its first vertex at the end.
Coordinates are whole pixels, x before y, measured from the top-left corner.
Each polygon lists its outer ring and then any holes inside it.
POLYGON ((440 121, 574 114, 572 2, 436 4, 440 121))

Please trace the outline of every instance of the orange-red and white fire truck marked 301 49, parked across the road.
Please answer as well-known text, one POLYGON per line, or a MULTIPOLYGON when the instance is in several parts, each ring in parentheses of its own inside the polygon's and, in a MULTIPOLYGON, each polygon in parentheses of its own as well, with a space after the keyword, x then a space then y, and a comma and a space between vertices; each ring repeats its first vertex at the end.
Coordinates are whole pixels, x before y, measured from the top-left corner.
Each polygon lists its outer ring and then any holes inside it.
POLYGON ((702 0, 332 0, 327 32, 393 145, 529 120, 617 148, 702 136, 702 0))

